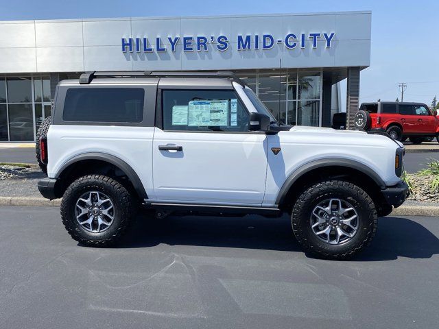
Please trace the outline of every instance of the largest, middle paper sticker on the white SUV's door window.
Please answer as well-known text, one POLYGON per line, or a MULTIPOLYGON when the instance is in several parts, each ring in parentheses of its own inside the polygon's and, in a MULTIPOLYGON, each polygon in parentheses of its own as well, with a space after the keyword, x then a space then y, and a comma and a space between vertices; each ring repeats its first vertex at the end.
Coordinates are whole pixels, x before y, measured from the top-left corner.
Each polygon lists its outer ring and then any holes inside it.
POLYGON ((228 99, 189 101, 189 126, 227 126, 228 99))

